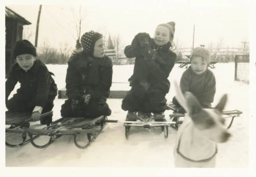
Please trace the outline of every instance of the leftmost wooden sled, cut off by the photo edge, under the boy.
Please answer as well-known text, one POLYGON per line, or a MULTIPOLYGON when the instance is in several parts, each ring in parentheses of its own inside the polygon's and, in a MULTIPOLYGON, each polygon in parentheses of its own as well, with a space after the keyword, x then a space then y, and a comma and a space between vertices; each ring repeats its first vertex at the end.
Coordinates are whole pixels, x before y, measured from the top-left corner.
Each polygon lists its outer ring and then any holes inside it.
MULTIPOLYGON (((40 119, 52 114, 53 114, 53 111, 43 113, 41 114, 40 119)), ((31 139, 27 139, 27 129, 29 129, 29 122, 33 122, 31 119, 31 112, 6 111, 5 125, 11 125, 11 126, 9 128, 5 128, 5 145, 8 147, 20 147, 20 146, 23 146, 24 144, 29 143, 31 141, 31 139), (21 138, 18 138, 17 140, 18 142, 16 142, 15 144, 7 142, 9 137, 8 135, 10 135, 11 133, 16 133, 17 135, 21 136, 21 138)), ((36 139, 38 137, 39 136, 34 136, 33 139, 36 139)))

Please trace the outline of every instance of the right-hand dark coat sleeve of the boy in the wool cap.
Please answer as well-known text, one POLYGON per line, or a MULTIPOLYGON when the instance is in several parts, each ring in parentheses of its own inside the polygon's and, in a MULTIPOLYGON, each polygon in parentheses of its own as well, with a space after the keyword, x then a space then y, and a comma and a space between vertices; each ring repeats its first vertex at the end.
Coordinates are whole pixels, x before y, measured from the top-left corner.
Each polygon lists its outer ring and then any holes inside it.
POLYGON ((50 73, 45 65, 39 67, 37 80, 36 106, 44 107, 50 90, 50 73))

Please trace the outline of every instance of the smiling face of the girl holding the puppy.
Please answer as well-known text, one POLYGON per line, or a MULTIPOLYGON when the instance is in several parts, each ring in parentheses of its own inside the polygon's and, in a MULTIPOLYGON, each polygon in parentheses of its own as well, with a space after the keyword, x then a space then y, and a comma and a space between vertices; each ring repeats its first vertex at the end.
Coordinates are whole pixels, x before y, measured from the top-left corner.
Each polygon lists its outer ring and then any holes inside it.
POLYGON ((170 31, 165 26, 158 26, 155 31, 154 42, 158 46, 167 44, 170 41, 170 31))

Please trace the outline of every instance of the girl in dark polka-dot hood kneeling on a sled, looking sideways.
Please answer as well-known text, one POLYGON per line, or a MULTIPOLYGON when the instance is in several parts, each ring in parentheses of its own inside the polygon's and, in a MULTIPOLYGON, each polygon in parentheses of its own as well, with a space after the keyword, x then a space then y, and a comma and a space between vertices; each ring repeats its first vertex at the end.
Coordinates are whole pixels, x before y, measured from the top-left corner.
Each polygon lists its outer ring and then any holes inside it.
POLYGON ((112 84, 112 60, 104 55, 100 33, 89 31, 81 37, 83 50, 68 61, 66 88, 68 100, 61 106, 63 117, 109 116, 106 99, 112 84))

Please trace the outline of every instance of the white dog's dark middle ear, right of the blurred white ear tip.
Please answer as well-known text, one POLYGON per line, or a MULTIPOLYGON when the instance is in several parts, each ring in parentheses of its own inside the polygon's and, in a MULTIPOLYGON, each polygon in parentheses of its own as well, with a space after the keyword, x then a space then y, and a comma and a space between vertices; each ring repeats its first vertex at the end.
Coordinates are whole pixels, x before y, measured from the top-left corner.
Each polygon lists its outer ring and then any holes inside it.
POLYGON ((187 102, 190 116, 199 113, 203 109, 197 98, 191 92, 185 92, 184 97, 187 102))

